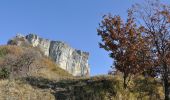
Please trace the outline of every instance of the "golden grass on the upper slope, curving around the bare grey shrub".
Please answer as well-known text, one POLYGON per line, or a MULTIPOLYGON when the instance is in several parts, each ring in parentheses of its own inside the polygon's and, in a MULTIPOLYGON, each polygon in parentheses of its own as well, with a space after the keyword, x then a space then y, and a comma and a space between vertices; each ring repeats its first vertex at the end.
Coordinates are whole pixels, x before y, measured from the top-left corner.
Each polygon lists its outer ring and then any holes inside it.
POLYGON ((33 47, 20 47, 14 45, 0 46, 0 66, 5 65, 4 60, 8 57, 13 56, 15 58, 19 58, 20 55, 28 51, 30 53, 31 51, 36 51, 33 52, 33 54, 37 53, 37 55, 41 55, 40 57, 37 57, 37 59, 31 65, 32 70, 28 72, 29 76, 44 77, 50 80, 72 77, 71 74, 58 67, 55 62, 53 62, 50 58, 42 55, 41 51, 33 47))

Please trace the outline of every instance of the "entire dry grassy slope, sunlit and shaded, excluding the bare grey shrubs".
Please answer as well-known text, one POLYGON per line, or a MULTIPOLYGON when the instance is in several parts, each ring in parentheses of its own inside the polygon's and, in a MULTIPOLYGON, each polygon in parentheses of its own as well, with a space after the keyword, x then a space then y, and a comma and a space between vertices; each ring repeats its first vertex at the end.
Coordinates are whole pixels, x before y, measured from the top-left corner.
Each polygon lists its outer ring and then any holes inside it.
MULTIPOLYGON (((0 65, 7 56, 18 56, 26 50, 28 48, 0 46, 0 65)), ((120 76, 75 78, 44 56, 34 65, 43 68, 26 78, 0 80, 0 100, 136 100, 137 97, 160 100, 162 97, 162 87, 152 79, 137 79, 132 83, 134 89, 124 90, 120 76), (135 82, 141 84, 135 85, 135 82), (151 85, 146 87, 148 82, 151 85)))

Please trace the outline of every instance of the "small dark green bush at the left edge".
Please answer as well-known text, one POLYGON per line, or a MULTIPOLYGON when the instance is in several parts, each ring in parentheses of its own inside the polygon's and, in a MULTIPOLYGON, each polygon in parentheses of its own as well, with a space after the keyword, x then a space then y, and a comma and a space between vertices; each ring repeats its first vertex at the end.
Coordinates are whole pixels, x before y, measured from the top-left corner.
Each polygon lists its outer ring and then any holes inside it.
POLYGON ((8 68, 3 67, 0 70, 0 79, 7 79, 10 76, 10 71, 8 68))

